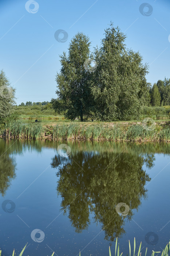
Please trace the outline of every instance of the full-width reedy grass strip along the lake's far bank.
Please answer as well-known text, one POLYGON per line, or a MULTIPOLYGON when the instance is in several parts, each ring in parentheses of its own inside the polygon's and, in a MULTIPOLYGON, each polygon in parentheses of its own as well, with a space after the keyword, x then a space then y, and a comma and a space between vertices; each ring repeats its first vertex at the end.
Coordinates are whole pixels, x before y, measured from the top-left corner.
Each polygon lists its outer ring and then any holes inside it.
POLYGON ((0 128, 1 138, 95 140, 95 141, 158 141, 170 142, 169 121, 148 128, 142 123, 79 123, 59 122, 42 126, 41 123, 23 124, 11 121, 0 128))

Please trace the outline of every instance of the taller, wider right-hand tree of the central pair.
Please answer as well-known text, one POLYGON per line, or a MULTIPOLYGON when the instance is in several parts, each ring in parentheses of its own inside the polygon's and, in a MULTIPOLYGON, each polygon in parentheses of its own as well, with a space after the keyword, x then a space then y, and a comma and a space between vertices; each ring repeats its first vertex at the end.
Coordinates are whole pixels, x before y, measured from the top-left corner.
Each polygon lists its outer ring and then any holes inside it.
POLYGON ((139 52, 126 48, 126 36, 112 23, 101 47, 95 49, 98 67, 91 81, 96 116, 103 121, 137 118, 146 104, 147 65, 139 52))

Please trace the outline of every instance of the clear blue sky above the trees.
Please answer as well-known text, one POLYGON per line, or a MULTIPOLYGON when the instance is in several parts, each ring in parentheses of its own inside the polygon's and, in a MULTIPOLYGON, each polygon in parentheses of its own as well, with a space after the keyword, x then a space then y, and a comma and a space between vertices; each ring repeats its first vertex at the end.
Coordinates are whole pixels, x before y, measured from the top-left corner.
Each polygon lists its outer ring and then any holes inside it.
POLYGON ((146 0, 144 15, 139 7, 145 0, 30 0, 25 8, 26 2, 0 0, 0 70, 16 88, 17 104, 55 98, 59 54, 78 31, 90 37, 91 50, 99 46, 111 21, 149 64, 148 82, 170 78, 169 0, 146 0), (59 29, 68 33, 64 43, 54 37, 59 29))

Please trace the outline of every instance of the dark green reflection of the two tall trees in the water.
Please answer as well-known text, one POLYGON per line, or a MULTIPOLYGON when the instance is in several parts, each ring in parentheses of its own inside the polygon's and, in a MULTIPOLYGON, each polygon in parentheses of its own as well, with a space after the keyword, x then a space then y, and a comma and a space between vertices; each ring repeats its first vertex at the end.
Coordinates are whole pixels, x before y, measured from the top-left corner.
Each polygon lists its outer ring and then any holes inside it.
MULTIPOLYGON (((57 191, 62 196, 62 210, 76 232, 88 228, 90 213, 100 223, 105 239, 114 241, 125 232, 126 219, 131 220, 133 209, 139 208, 141 198, 146 197, 148 174, 142 169, 144 163, 152 167, 154 155, 112 152, 77 152, 69 159, 56 155, 52 167, 58 167, 57 191), (122 217, 115 206, 126 203, 130 211, 122 217)), ((122 209, 123 211, 123 209, 122 209)))

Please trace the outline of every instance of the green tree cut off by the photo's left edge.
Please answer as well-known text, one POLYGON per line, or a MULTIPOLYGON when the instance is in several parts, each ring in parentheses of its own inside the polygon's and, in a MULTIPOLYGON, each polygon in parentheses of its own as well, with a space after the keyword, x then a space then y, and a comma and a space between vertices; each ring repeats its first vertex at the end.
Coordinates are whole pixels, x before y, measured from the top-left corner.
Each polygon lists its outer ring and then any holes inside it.
POLYGON ((12 112, 15 103, 15 89, 9 83, 3 70, 0 71, 0 122, 12 112))

